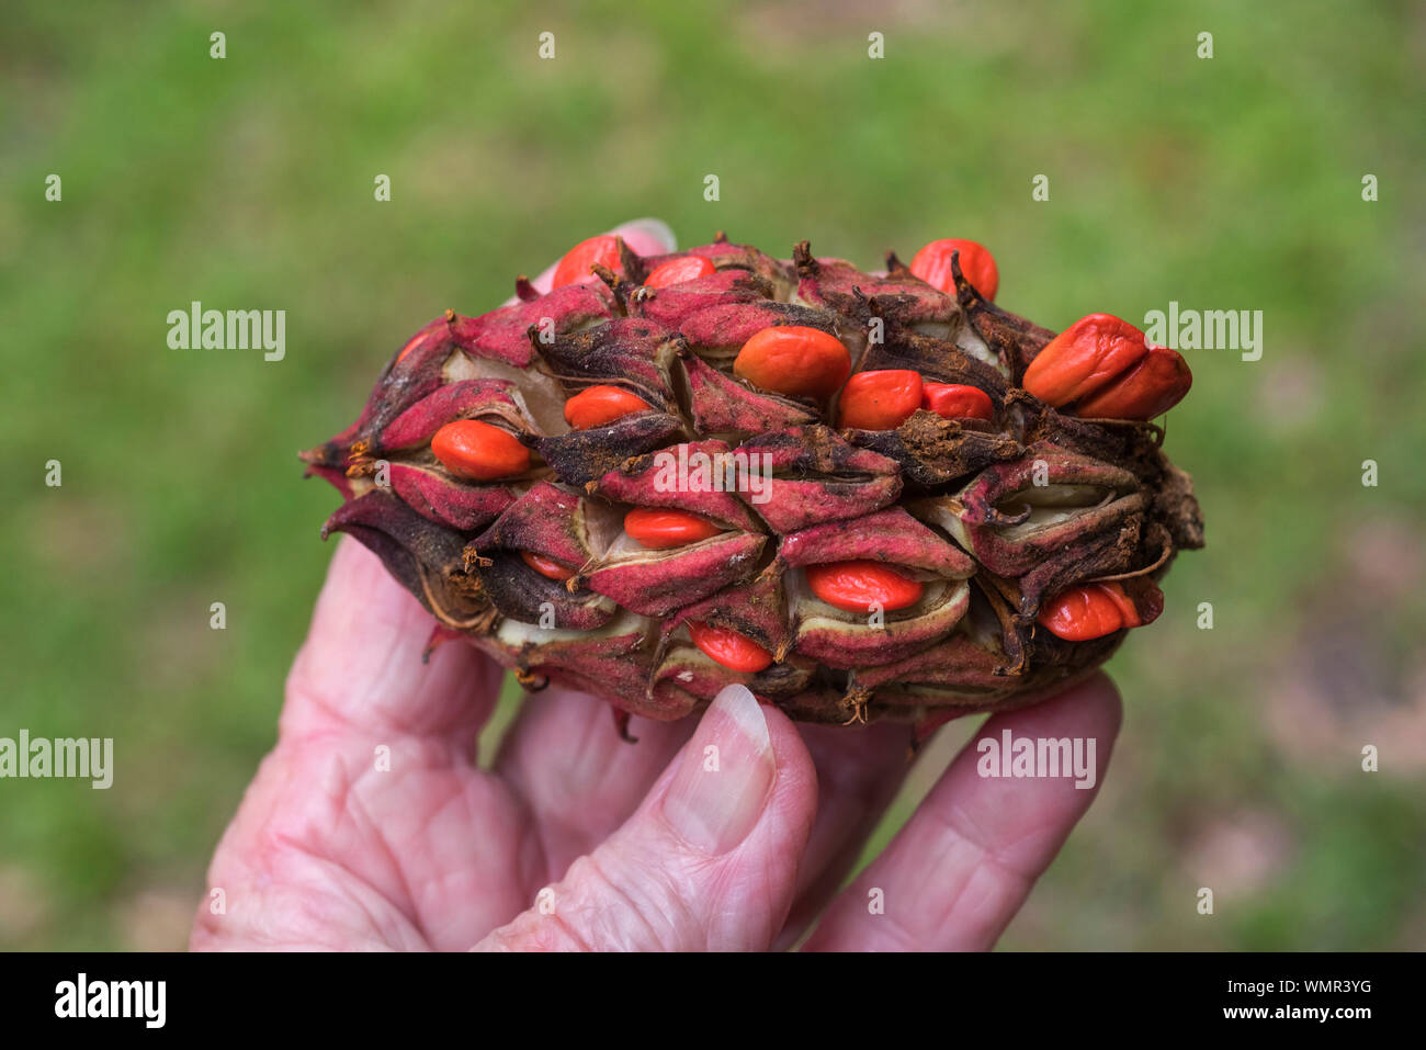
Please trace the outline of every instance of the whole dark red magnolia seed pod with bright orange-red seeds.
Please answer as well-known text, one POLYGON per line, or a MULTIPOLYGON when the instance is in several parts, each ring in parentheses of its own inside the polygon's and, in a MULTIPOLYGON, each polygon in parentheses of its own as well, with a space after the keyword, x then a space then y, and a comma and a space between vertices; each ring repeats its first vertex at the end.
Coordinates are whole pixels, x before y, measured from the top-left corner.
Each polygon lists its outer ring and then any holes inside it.
POLYGON ((1002 310, 965 244, 873 275, 806 241, 585 241, 552 291, 520 278, 425 325, 302 454, 345 499, 322 535, 375 551, 432 642, 620 725, 730 682, 917 738, 1042 699, 1151 623, 1204 544, 1148 418, 1191 377, 1107 314, 1057 337, 1002 310))

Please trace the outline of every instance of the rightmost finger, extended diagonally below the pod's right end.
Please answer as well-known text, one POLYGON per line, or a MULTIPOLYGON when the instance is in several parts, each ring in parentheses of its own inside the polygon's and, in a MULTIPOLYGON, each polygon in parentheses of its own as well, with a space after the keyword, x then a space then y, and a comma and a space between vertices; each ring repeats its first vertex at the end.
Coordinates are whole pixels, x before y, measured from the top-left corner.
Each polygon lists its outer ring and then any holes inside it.
POLYGON ((1119 729, 1119 696, 1097 675, 1052 700, 987 719, 887 850, 833 902, 809 950, 985 950, 1094 800, 1119 729), (990 778, 980 740, 1095 742, 1094 783, 990 778), (874 909, 880 903, 884 912, 874 909))

